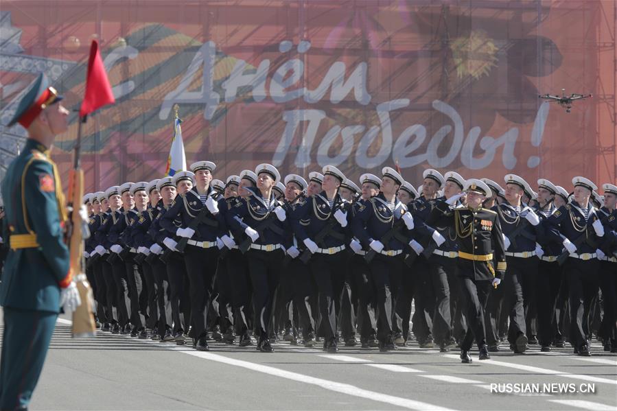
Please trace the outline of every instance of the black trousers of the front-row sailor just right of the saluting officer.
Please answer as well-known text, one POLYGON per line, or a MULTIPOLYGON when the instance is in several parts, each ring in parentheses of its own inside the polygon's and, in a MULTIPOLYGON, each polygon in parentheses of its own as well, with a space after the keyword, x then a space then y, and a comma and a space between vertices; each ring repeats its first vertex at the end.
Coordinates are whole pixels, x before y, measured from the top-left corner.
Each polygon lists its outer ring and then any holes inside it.
POLYGON ((537 270, 535 257, 506 257, 507 272, 500 287, 504 287, 504 301, 502 312, 508 314, 510 325, 508 327, 508 341, 516 343, 519 333, 527 333, 525 327, 525 310, 523 307, 522 277, 527 270, 537 270))

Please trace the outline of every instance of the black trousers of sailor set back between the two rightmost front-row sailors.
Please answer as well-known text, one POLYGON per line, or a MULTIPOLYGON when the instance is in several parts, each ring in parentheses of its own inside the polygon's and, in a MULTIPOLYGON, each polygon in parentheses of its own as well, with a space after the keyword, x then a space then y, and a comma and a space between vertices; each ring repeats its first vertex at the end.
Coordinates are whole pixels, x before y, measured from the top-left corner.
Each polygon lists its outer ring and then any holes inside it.
POLYGON ((555 338, 553 320, 555 303, 561 284, 561 267, 557 261, 542 261, 538 264, 536 282, 536 305, 538 319, 538 342, 542 347, 550 346, 555 338))

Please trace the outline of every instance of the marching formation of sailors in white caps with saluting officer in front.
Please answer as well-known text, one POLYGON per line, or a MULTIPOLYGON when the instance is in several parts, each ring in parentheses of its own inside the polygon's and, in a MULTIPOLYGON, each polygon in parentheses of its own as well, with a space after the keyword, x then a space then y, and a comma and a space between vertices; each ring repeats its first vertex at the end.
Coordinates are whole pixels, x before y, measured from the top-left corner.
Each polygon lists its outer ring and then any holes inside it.
POLYGON ((84 196, 100 330, 209 350, 283 340, 522 354, 617 352, 617 187, 391 167, 358 182, 216 165, 84 196), (503 186, 503 188, 502 188, 503 186), (412 309, 412 307, 414 309, 412 309), (411 329, 410 329, 410 324, 411 329))

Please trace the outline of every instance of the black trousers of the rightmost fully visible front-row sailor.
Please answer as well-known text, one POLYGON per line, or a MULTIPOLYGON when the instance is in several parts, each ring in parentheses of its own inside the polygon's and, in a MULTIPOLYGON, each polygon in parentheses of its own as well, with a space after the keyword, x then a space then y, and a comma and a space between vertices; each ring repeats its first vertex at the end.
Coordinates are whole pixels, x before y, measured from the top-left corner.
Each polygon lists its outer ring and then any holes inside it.
POLYGON ((566 277, 570 283, 570 344, 581 348, 590 337, 589 314, 598 294, 598 260, 568 257, 566 277))

